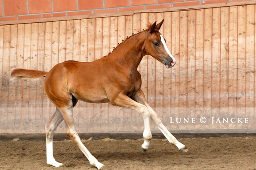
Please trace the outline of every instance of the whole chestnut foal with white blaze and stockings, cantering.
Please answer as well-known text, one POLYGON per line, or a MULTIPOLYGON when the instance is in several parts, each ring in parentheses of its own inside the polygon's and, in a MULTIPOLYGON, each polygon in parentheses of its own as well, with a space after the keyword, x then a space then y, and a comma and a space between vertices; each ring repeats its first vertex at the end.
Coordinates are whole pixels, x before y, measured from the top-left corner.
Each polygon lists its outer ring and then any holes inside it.
POLYGON ((90 154, 81 142, 72 115, 73 107, 78 100, 90 103, 106 103, 127 107, 138 111, 144 119, 144 143, 142 149, 148 150, 152 134, 150 119, 162 131, 168 141, 182 152, 188 151, 164 127, 158 115, 148 105, 140 89, 141 77, 137 67, 144 55, 151 55, 167 68, 173 67, 176 59, 166 46, 163 36, 158 31, 164 20, 156 22, 138 34, 122 42, 108 56, 93 62, 65 61, 55 65, 48 73, 44 71, 15 69, 13 79, 44 79, 44 91, 56 105, 56 111, 46 123, 47 164, 59 167, 62 164, 53 157, 52 139, 58 125, 64 120, 66 133, 82 150, 90 164, 103 169, 104 164, 90 154))

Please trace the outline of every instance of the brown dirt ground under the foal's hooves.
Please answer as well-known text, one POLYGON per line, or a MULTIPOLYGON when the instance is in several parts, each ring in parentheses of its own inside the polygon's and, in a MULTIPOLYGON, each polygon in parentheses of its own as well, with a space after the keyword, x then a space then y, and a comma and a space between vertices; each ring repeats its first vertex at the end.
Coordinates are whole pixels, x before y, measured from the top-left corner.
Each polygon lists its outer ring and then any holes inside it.
MULTIPOLYGON (((141 139, 82 142, 109 170, 256 170, 256 137, 183 138, 180 142, 190 150, 185 153, 166 139, 152 139, 146 154, 141 139)), ((64 165, 46 164, 44 141, 0 141, 1 170, 96 170, 70 140, 54 142, 54 157, 64 165)))

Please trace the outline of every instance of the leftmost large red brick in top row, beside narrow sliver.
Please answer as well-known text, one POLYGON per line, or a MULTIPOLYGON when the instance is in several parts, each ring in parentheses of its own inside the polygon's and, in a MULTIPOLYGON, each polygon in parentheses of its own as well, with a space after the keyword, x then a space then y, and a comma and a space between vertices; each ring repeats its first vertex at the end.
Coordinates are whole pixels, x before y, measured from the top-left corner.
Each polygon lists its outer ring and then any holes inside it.
POLYGON ((27 1, 4 0, 4 14, 5 16, 28 14, 27 1))

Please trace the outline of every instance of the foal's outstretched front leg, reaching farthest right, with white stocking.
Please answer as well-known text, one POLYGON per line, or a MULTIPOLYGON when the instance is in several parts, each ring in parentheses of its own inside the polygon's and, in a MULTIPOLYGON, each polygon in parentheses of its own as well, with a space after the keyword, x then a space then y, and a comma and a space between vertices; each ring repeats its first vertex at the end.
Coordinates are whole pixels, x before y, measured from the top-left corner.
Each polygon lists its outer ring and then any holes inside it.
MULTIPOLYGON (((156 114, 156 112, 148 105, 148 102, 146 101, 145 95, 143 91, 140 89, 138 92, 135 93, 133 99, 137 101, 138 103, 141 103, 145 105, 148 108, 148 111, 150 112, 150 118, 151 120, 156 124, 156 126, 161 130, 161 132, 164 134, 164 136, 168 139, 168 141, 178 147, 178 149, 182 152, 187 152, 188 149, 186 146, 182 143, 180 143, 170 132, 169 130, 162 124, 162 121, 156 114)), ((149 143, 148 143, 149 144, 149 143)))

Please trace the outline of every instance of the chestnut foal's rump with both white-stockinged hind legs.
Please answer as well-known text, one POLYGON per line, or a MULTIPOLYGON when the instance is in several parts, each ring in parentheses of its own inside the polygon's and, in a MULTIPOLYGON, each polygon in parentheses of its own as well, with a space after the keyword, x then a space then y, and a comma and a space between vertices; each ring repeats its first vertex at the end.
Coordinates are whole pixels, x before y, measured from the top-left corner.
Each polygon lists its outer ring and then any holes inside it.
MULTIPOLYGON (((67 136, 77 144, 80 150, 88 158, 91 165, 98 169, 103 169, 104 164, 92 156, 88 149, 81 142, 78 133, 74 127, 73 107, 77 103, 77 99, 70 93, 70 80, 72 69, 75 69, 76 61, 66 61, 52 68, 44 80, 44 91, 49 99, 56 106, 56 111, 46 123, 46 156, 47 164, 59 167, 62 164, 57 162, 53 157, 52 140, 58 125, 64 120, 67 136), (70 63, 72 62, 72 63, 70 63), (69 63, 69 65, 65 65, 69 63)), ((72 80, 72 79, 71 79, 72 80)))

